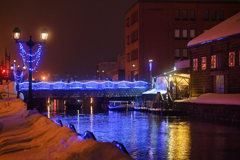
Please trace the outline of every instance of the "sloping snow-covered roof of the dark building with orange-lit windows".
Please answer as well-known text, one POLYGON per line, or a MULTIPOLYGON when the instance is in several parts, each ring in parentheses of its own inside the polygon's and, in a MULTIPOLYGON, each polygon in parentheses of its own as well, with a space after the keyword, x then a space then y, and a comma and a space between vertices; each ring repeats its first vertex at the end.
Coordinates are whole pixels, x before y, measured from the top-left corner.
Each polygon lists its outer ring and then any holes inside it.
POLYGON ((204 44, 236 34, 240 34, 240 12, 197 36, 188 42, 187 46, 191 47, 198 44, 204 44))

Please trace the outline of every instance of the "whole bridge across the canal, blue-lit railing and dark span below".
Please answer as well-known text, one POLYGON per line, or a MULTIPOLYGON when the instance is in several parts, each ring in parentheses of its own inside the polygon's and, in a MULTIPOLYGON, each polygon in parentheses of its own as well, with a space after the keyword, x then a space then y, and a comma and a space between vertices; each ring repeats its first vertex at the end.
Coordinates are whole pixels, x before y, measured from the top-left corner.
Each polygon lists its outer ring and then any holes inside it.
MULTIPOLYGON (((28 82, 19 83, 19 91, 28 98, 28 82)), ((76 99, 80 97, 138 97, 148 89, 144 81, 75 81, 32 83, 34 98, 76 99)))

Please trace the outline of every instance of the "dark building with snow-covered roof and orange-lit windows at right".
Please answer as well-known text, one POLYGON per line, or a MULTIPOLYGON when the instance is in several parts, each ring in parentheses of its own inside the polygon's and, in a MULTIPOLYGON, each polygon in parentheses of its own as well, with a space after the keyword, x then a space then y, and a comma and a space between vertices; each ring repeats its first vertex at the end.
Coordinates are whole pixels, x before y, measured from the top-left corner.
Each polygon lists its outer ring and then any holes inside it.
POLYGON ((240 12, 188 43, 190 94, 240 93, 240 12))

